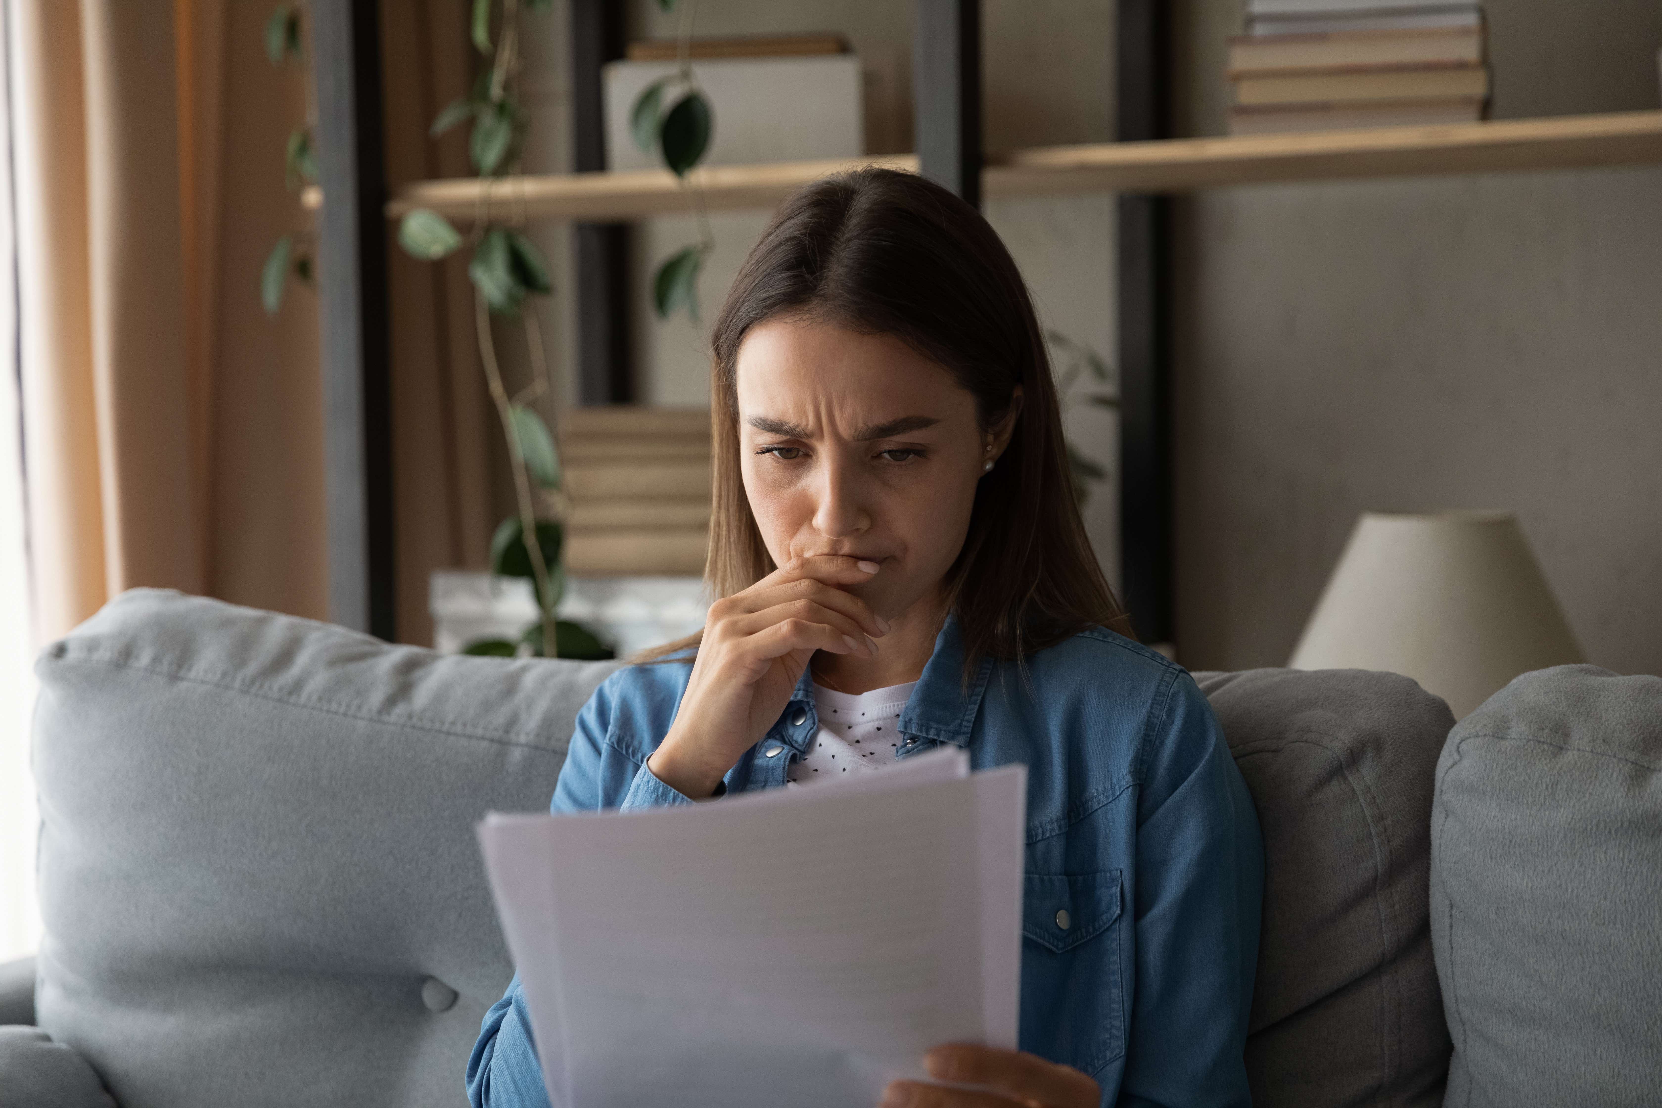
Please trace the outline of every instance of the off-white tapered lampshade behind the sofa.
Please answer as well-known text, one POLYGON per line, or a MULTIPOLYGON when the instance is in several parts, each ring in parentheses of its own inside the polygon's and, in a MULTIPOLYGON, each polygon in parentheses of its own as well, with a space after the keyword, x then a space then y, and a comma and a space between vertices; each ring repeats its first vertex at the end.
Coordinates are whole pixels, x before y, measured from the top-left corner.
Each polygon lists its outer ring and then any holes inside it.
POLYGON ((1517 674, 1576 661, 1512 515, 1366 512, 1288 664, 1401 673, 1461 719, 1517 674))

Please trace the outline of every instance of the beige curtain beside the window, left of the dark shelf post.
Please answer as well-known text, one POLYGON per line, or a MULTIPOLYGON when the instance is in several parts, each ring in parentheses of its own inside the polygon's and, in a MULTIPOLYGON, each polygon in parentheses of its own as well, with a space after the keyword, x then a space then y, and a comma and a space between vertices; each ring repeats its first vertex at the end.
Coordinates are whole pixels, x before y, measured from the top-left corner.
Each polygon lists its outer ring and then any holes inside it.
POLYGON ((324 615, 316 311, 258 302, 302 221, 266 5, 8 2, 37 635, 136 585, 324 615))

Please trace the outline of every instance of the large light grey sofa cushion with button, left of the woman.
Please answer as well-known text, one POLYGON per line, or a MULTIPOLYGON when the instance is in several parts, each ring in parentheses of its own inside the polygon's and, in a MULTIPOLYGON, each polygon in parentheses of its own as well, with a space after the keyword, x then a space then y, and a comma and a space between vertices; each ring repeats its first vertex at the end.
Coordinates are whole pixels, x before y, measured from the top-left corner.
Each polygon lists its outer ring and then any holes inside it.
POLYGON ((123 1108, 465 1105, 512 977, 474 822, 547 807, 613 668, 111 601, 37 666, 42 1030, 123 1108))

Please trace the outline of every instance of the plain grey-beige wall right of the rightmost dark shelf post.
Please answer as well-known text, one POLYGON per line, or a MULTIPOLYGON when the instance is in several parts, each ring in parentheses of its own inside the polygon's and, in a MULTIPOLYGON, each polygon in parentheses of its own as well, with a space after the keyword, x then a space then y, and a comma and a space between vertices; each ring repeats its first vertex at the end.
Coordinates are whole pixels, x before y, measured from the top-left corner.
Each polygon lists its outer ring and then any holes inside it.
MULTIPOLYGON (((1662 5, 1491 0, 1494 115, 1657 108, 1662 5)), ((1185 0, 1220 133, 1235 0, 1185 0)), ((1182 661, 1285 664, 1360 512, 1519 513, 1591 661, 1662 673, 1662 168, 1178 204, 1182 661)))

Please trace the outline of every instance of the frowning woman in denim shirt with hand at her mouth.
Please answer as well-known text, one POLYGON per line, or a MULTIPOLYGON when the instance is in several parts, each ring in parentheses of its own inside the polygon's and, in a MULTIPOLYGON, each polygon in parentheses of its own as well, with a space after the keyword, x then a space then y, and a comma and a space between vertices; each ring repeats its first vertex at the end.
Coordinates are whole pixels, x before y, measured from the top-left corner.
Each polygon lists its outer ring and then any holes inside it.
MULTIPOLYGON (((1248 1105, 1251 801, 1097 568, 992 228, 909 174, 811 184, 711 344, 720 600, 676 645, 696 653, 600 686, 553 811, 813 786, 942 744, 1025 762, 1022 1052, 942 1043, 927 1071, 986 1091, 896 1081, 883 1105, 1248 1105)), ((479 1106, 545 1103, 517 982, 467 1085, 479 1106)))

